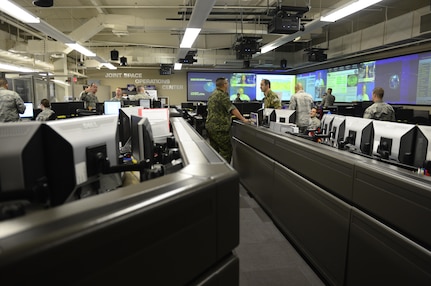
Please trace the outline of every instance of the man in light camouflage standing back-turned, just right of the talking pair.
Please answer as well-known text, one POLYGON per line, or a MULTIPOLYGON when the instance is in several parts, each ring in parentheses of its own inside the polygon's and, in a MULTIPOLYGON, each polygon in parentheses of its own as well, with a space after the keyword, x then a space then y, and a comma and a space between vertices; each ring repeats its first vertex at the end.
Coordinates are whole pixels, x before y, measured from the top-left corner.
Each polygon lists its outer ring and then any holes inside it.
POLYGON ((310 94, 306 93, 302 83, 295 85, 295 94, 290 98, 289 109, 296 110, 296 125, 300 133, 304 133, 310 123, 310 110, 314 102, 310 94))

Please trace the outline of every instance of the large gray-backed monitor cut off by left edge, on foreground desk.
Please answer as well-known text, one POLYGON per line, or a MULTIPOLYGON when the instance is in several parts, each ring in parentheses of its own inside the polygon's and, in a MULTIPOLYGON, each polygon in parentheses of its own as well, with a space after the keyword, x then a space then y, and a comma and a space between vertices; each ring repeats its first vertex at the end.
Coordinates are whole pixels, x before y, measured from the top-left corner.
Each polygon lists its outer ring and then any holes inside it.
POLYGON ((0 202, 31 200, 46 183, 42 124, 1 124, 0 134, 0 202))

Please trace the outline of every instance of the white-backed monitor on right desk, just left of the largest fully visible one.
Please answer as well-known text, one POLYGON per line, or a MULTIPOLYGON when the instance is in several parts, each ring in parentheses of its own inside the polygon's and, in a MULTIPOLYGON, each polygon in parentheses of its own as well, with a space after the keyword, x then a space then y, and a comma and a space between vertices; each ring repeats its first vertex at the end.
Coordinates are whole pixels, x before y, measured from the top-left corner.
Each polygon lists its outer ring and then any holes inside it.
POLYGON ((371 155, 373 137, 374 129, 372 119, 346 116, 344 142, 352 147, 352 151, 371 155))

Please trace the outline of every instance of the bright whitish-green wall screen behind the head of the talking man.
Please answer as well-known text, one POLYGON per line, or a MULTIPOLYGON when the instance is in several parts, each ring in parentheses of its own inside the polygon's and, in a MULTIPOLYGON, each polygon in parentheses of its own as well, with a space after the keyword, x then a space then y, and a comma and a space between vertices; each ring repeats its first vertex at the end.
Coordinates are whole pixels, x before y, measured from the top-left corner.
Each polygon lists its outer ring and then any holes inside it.
POLYGON ((264 95, 260 89, 263 79, 271 82, 271 90, 278 95, 280 101, 288 101, 295 94, 295 76, 287 74, 256 74, 256 100, 263 100, 264 95))

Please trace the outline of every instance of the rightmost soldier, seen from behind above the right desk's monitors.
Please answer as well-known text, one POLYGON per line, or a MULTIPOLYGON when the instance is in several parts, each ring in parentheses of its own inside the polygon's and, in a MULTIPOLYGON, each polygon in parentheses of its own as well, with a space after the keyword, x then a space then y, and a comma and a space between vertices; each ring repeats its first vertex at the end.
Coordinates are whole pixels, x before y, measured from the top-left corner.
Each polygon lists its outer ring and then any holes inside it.
POLYGON ((395 111, 386 102, 383 102, 385 91, 381 87, 373 89, 373 104, 365 109, 364 118, 377 119, 383 121, 395 121, 395 111))

